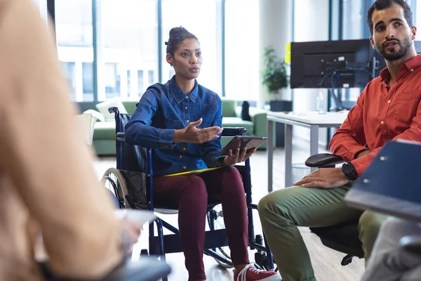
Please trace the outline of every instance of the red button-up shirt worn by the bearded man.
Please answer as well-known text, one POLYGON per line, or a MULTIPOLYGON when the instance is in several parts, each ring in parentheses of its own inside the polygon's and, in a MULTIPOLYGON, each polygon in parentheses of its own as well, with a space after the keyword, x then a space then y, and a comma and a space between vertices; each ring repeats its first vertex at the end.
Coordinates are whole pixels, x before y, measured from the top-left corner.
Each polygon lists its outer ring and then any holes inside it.
POLYGON ((361 175, 387 141, 421 141, 421 55, 401 65, 392 87, 387 68, 367 84, 329 149, 354 165, 361 175), (371 153, 355 159, 364 149, 371 153))

